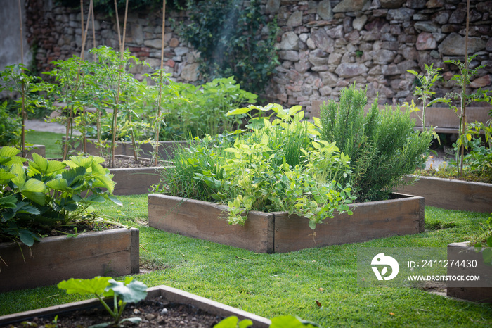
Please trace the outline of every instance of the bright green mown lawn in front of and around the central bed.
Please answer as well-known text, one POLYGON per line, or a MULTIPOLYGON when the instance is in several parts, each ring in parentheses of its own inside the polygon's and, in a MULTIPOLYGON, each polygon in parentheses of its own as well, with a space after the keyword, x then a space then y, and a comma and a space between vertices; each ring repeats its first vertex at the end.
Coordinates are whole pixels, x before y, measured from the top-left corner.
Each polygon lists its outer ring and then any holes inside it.
MULTIPOLYGON (((480 232, 487 214, 427 207, 428 231, 422 234, 261 254, 153 229, 148 227, 146 195, 119 199, 123 206, 107 203, 96 210, 140 229, 141 266, 147 271, 135 277, 148 286, 167 284, 264 317, 292 314, 322 327, 492 324, 491 305, 458 301, 414 288, 363 288, 356 283, 358 249, 444 248, 480 232)), ((83 296, 67 295, 56 286, 11 291, 0 294, 0 315, 81 299, 83 296)))

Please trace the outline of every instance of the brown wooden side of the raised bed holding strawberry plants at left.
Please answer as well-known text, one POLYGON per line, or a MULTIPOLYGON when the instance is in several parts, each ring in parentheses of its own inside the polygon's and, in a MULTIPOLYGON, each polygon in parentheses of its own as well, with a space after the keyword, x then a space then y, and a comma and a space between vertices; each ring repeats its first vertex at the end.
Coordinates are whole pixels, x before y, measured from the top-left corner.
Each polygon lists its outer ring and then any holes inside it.
POLYGON ((0 244, 0 292, 57 284, 64 279, 138 273, 138 229, 42 238, 29 248, 0 244), (21 251, 22 248, 22 251, 21 251))

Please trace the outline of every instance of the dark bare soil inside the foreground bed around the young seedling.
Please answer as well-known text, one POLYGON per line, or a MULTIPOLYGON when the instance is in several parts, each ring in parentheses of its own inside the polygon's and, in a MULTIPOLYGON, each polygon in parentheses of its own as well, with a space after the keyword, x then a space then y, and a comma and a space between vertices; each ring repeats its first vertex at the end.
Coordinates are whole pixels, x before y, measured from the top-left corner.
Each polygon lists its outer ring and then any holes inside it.
MULTIPOLYGON (((111 305, 110 305, 111 307, 111 305)), ((128 304, 122 318, 141 317, 140 324, 132 325, 130 322, 122 323, 122 327, 214 327, 223 317, 212 315, 194 308, 191 305, 170 303, 162 296, 141 301, 136 304, 128 304)), ((15 324, 1 327, 89 327, 93 324, 110 322, 112 317, 103 308, 89 308, 68 313, 60 313, 54 323, 55 316, 34 317, 15 324)), ((113 327, 113 326, 110 326, 113 327)))

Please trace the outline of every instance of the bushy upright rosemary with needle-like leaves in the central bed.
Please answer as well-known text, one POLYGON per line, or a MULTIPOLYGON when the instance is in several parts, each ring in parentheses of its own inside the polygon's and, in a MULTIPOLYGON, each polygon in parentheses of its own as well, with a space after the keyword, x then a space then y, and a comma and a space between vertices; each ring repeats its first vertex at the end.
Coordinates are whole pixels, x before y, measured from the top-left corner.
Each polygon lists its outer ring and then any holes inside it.
POLYGON ((365 115, 367 102, 366 90, 354 84, 342 89, 338 102, 323 103, 321 139, 335 142, 351 159, 349 184, 358 201, 377 201, 425 163, 432 134, 415 132, 409 111, 379 111, 377 99, 365 115))

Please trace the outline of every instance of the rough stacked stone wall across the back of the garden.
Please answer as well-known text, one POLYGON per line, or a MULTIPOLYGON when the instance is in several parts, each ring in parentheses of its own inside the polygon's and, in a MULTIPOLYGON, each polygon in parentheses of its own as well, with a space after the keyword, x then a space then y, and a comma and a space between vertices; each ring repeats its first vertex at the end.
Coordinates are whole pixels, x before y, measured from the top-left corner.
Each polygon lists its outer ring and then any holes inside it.
MULTIPOLYGON (((86 1, 89 2, 89 1, 86 1)), ((37 65, 80 54, 80 11, 29 0, 29 42, 37 45, 37 65)), ((457 91, 451 80, 458 73, 448 59, 465 55, 466 0, 263 0, 269 20, 276 18, 281 65, 265 90, 270 101, 283 106, 300 104, 309 113, 313 101, 339 96, 351 83, 379 94, 381 104, 403 103, 412 94, 415 77, 425 64, 442 68, 436 96, 457 91)), ((247 1, 245 1, 245 6, 247 1)), ((88 6, 88 4, 87 4, 88 6)), ((85 13, 86 15, 86 13, 85 13)), ((180 40, 174 24, 186 23, 186 11, 169 12, 164 37, 164 68, 173 80, 200 82, 199 53, 180 40), (174 20, 174 24, 171 24, 174 20)), ((120 15, 120 19, 121 19, 120 15)), ((129 13, 126 46, 134 56, 160 66, 161 11, 129 13)), ((96 46, 118 47, 114 17, 96 13, 96 46)), ((478 56, 472 68, 486 65, 472 77, 470 92, 492 84, 492 1, 470 1, 469 53, 478 56)), ((87 46, 93 45, 91 27, 87 46)), ((87 56, 87 55, 86 55, 87 56)), ((132 71, 137 78, 145 68, 132 71)), ((479 105, 479 104, 478 104, 479 105)))

